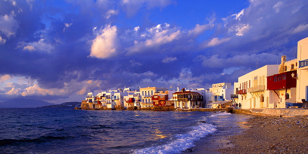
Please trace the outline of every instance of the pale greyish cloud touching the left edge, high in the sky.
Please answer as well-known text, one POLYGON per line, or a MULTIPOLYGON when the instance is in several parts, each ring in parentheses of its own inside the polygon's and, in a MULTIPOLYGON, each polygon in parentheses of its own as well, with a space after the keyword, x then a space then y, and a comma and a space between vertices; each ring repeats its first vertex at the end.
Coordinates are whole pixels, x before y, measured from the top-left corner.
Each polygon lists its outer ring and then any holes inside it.
POLYGON ((7 15, 0 15, 0 31, 6 35, 6 37, 10 37, 16 34, 18 29, 18 22, 14 19, 14 12, 7 15))

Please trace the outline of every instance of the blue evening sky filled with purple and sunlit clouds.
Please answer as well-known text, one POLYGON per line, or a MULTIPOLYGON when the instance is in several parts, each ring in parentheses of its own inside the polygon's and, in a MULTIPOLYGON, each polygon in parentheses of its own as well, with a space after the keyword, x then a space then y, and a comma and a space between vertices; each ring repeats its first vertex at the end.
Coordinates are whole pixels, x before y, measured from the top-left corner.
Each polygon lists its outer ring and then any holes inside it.
POLYGON ((306 0, 0 0, 0 102, 210 88, 297 57, 306 0))

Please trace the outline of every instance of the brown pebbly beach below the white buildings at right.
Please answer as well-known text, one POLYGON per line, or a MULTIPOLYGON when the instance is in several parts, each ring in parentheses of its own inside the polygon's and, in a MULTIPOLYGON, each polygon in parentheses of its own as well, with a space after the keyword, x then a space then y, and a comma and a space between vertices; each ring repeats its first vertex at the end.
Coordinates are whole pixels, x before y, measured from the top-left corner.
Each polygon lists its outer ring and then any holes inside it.
POLYGON ((227 136, 221 148, 204 153, 308 153, 308 116, 253 116, 245 125, 249 128, 227 136))

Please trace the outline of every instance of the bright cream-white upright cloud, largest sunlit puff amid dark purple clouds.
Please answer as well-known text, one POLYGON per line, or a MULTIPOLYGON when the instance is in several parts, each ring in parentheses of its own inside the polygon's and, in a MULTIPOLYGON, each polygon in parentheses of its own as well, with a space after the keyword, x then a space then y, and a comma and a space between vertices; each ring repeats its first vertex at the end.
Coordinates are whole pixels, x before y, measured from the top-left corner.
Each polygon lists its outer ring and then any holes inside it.
POLYGON ((96 35, 91 46, 91 57, 108 58, 115 56, 117 47, 117 27, 107 25, 96 35))

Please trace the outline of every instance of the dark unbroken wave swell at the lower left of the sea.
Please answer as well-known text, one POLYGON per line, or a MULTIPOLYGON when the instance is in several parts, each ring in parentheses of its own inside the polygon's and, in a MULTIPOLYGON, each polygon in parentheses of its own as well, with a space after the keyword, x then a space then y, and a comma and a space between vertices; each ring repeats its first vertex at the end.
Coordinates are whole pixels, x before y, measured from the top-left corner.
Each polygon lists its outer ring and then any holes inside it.
POLYGON ((3 139, 0 140, 0 145, 20 145, 20 144, 26 144, 26 143, 45 143, 50 142, 53 140, 68 140, 71 138, 75 138, 74 136, 40 136, 38 138, 34 139, 3 139))

